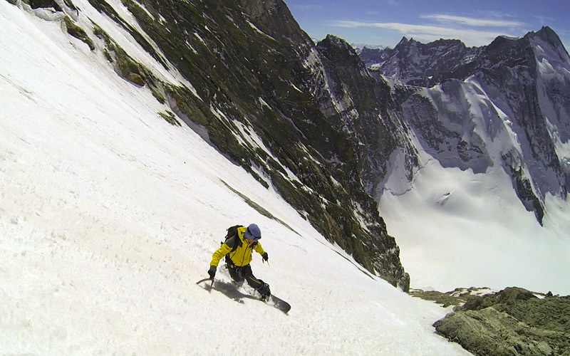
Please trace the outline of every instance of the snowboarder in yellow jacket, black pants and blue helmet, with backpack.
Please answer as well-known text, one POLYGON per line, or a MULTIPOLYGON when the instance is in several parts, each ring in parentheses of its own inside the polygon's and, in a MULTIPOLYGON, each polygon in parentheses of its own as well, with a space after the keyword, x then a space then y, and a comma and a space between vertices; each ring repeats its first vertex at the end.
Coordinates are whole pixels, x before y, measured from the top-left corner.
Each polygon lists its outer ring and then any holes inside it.
POLYGON ((261 294, 262 300, 267 300, 269 295, 271 295, 269 284, 255 278, 252 273, 252 267, 249 266, 249 263, 252 262, 253 250, 257 251, 264 261, 269 259, 267 253, 259 244, 259 239, 261 239, 261 230, 259 230, 256 224, 250 224, 247 228, 244 226, 232 226, 229 228, 226 241, 222 244, 222 247, 212 254, 212 262, 209 263, 208 271, 210 278, 214 278, 219 261, 226 256, 225 260, 229 276, 236 282, 247 281, 249 286, 261 294))

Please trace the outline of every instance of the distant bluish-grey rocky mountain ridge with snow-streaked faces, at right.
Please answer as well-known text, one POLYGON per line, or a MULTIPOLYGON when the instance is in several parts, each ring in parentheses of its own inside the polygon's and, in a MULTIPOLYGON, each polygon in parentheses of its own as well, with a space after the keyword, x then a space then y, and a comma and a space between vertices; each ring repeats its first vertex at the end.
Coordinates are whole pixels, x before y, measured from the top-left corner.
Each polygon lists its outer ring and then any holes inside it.
POLYGON ((395 86, 400 114, 444 167, 503 167, 540 223, 546 194, 566 198, 570 59, 550 28, 482 48, 404 39, 375 56, 373 70, 420 85, 395 86))

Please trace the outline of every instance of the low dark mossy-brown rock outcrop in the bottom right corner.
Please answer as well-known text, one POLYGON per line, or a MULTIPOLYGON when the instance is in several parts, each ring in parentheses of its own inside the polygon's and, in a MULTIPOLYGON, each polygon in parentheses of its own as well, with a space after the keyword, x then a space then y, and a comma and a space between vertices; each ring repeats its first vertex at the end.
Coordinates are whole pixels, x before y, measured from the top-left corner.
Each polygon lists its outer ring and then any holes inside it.
POLYGON ((435 324, 474 355, 570 355, 570 297, 507 288, 474 296, 435 324))

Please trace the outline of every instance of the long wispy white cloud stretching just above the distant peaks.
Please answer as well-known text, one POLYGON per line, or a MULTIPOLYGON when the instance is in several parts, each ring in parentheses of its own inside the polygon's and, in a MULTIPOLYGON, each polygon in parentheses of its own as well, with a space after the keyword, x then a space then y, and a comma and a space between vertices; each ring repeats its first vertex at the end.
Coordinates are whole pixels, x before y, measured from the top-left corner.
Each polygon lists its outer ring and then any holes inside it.
POLYGON ((408 38, 415 38, 420 41, 435 41, 440 38, 452 39, 457 38, 463 41, 467 46, 484 46, 488 45, 497 36, 507 35, 517 37, 502 31, 480 31, 464 28, 450 28, 442 26, 425 26, 413 25, 410 23, 382 23, 382 22, 363 22, 363 21, 336 21, 333 26, 345 28, 380 28, 399 31, 408 38))

